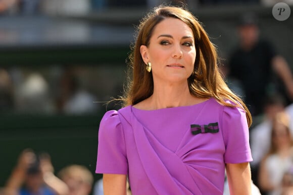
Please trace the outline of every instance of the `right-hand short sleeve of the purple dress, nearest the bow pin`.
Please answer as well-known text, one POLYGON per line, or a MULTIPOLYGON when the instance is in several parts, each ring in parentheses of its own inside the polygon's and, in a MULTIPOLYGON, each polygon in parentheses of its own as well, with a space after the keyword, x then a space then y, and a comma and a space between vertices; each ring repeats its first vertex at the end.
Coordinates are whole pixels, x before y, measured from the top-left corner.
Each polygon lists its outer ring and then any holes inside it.
POLYGON ((222 129, 226 147, 225 163, 252 161, 246 112, 238 107, 225 106, 222 115, 222 129))

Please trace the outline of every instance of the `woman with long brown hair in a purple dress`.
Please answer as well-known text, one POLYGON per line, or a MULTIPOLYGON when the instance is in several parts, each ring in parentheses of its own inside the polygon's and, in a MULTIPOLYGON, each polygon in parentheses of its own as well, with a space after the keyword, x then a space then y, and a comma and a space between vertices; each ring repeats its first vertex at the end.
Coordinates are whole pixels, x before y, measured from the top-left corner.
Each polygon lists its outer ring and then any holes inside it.
POLYGON ((100 124, 105 194, 251 194, 251 115, 224 83, 191 13, 159 7, 138 26, 125 107, 100 124), (246 117, 247 116, 247 117, 246 117))

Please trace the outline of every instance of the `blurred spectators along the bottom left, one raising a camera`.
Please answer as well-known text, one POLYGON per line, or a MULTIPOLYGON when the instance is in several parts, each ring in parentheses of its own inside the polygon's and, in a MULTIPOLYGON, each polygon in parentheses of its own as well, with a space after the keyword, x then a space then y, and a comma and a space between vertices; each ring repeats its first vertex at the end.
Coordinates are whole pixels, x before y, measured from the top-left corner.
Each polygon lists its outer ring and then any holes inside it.
MULTIPOLYGON (((128 185, 129 187, 129 185, 128 185)), ((25 149, 19 155, 1 195, 103 195, 103 179, 94 181, 83 165, 72 164, 55 174, 51 157, 25 149)), ((128 189, 128 194, 130 195, 128 189)))

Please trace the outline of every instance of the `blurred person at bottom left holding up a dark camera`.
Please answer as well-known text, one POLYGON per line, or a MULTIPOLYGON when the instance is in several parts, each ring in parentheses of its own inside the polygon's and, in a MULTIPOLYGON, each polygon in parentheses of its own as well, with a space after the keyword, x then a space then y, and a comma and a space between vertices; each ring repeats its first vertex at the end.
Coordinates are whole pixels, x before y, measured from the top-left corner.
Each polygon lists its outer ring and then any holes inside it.
POLYGON ((48 154, 25 149, 5 186, 7 195, 67 195, 67 185, 54 175, 48 154))

